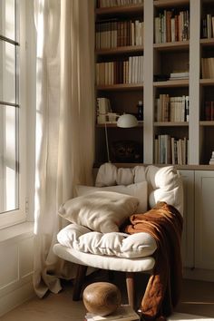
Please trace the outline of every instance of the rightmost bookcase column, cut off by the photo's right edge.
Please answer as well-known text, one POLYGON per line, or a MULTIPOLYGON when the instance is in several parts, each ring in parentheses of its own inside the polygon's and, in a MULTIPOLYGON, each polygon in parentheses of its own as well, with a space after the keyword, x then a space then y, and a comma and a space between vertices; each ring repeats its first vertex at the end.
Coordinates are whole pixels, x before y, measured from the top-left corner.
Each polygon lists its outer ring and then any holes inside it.
POLYGON ((200 12, 199 133, 202 164, 214 149, 214 3, 201 1, 200 12))

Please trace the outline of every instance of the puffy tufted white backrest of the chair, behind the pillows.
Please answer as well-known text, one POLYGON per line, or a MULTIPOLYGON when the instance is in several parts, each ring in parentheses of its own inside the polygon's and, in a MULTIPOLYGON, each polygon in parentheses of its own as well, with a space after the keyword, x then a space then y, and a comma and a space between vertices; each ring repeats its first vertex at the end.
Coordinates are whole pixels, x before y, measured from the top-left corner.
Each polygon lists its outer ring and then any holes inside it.
POLYGON ((133 184, 146 180, 148 182, 148 198, 150 208, 158 201, 166 201, 183 214, 183 190, 181 176, 175 168, 164 166, 159 168, 154 165, 135 166, 132 169, 118 169, 112 163, 105 163, 99 168, 95 186, 109 186, 112 182, 133 184), (124 179, 126 177, 126 179, 124 179), (109 180, 111 178, 111 180, 109 180))

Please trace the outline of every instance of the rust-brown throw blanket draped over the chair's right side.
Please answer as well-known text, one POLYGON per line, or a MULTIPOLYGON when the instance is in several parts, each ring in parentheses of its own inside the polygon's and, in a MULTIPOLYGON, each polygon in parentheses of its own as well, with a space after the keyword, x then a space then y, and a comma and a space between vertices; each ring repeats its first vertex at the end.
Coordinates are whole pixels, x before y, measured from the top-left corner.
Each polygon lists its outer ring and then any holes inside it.
POLYGON ((180 298, 180 239, 183 219, 180 212, 165 202, 144 214, 131 215, 123 225, 126 233, 147 232, 156 239, 155 266, 141 301, 141 320, 166 320, 180 298))

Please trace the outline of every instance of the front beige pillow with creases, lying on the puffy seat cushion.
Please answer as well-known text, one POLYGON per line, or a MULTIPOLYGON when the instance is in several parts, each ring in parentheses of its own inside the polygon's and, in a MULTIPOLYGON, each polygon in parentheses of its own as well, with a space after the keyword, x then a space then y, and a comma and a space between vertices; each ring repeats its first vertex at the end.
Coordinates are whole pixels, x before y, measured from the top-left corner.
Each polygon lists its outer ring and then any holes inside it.
POLYGON ((139 200, 130 195, 112 191, 94 191, 65 201, 59 215, 70 222, 102 233, 117 232, 135 212, 139 200))

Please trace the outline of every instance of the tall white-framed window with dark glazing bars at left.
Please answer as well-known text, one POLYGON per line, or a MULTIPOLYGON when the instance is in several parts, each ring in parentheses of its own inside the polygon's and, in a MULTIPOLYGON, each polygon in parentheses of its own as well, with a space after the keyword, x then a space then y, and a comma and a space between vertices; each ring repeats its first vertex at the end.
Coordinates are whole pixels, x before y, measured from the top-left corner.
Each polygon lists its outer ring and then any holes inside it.
POLYGON ((0 228, 25 219, 21 3, 0 2, 0 228))

